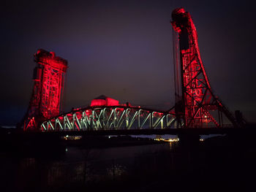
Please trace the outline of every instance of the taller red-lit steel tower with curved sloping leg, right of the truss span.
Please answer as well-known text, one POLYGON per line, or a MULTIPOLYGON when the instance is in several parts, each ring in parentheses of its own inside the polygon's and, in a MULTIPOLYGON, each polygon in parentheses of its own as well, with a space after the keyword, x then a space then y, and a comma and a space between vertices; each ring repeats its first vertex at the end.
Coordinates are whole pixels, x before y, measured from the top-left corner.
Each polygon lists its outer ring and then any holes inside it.
POLYGON ((221 127, 227 121, 238 126, 236 119, 211 90, 200 57, 197 31, 189 12, 183 8, 175 9, 172 19, 176 114, 181 126, 221 127))

